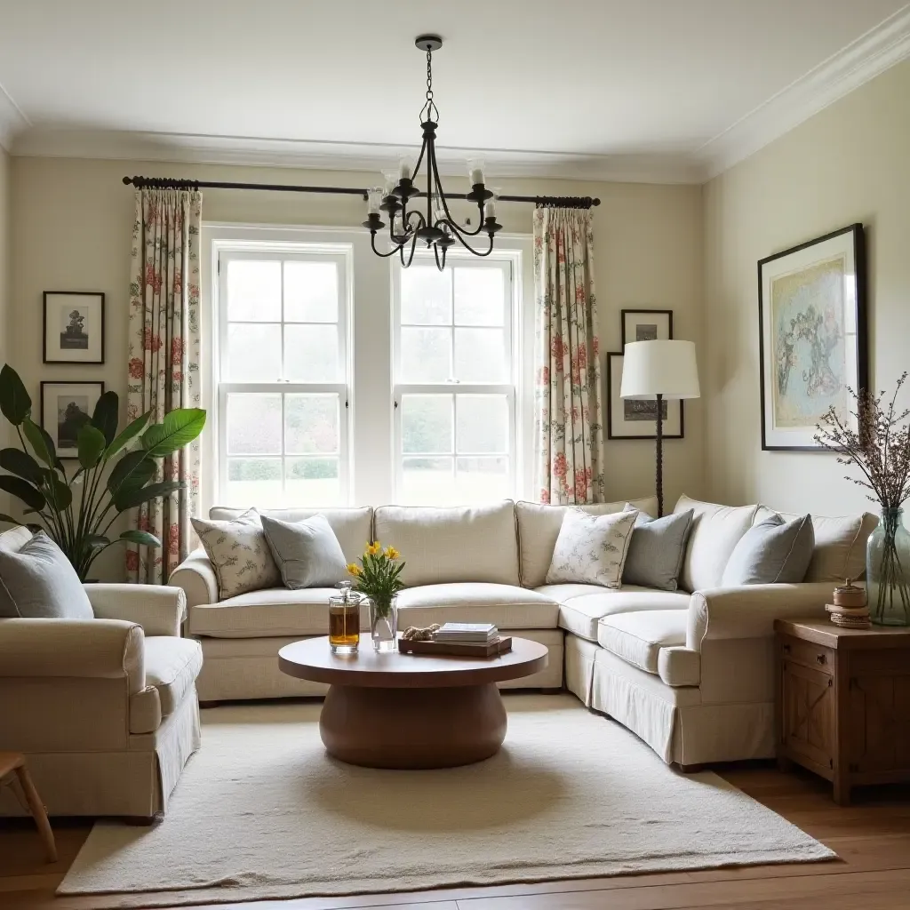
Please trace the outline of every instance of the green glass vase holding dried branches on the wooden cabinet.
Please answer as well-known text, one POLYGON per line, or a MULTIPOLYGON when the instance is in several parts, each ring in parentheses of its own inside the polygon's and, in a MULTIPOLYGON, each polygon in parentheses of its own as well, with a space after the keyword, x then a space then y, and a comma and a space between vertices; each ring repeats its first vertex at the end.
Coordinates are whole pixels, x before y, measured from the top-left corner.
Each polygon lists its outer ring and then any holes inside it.
POLYGON ((903 509, 883 509, 865 548, 869 613, 876 625, 910 625, 910 534, 903 509))

